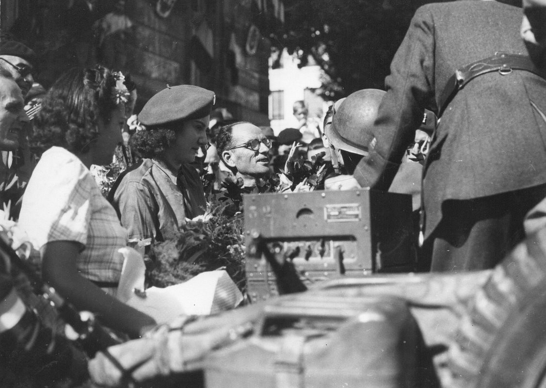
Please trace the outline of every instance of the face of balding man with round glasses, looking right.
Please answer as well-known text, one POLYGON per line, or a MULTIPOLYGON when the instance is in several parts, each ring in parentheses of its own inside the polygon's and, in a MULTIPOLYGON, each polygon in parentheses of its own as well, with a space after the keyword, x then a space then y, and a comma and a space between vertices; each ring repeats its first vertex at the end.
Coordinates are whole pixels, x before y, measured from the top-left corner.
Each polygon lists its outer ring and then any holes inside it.
POLYGON ((232 128, 232 144, 237 148, 223 152, 223 160, 228 166, 235 167, 242 175, 262 177, 269 173, 269 139, 259 127, 250 123, 232 128), (251 149, 251 140, 259 140, 259 148, 251 149), (248 144, 247 146, 242 146, 248 144))

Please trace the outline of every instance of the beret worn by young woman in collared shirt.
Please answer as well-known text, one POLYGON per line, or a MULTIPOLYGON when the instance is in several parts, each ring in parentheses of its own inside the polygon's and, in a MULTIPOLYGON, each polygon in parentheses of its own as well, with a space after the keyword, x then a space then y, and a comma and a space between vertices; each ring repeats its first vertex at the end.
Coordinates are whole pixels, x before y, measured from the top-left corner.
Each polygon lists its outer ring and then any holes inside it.
POLYGON ((148 100, 138 115, 141 124, 155 127, 210 114, 214 92, 194 85, 170 86, 148 100))

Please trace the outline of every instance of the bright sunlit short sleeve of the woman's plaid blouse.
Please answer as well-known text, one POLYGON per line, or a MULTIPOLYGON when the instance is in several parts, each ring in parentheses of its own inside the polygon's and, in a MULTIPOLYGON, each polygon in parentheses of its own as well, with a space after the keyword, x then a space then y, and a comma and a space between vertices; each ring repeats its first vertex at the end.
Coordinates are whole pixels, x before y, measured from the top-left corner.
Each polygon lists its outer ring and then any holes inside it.
POLYGON ((58 240, 86 245, 93 183, 74 155, 44 155, 32 173, 19 217, 19 225, 35 248, 58 240))

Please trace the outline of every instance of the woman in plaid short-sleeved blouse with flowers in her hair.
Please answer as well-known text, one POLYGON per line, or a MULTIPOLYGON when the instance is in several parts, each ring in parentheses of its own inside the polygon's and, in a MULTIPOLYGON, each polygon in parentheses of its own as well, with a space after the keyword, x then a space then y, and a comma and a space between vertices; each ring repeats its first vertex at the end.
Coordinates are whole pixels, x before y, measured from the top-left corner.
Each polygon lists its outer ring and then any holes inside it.
POLYGON ((129 95, 120 73, 72 69, 45 96, 31 145, 41 154, 23 196, 19 225, 40 249, 43 277, 79 310, 139 337, 155 325, 114 296, 127 232, 89 172, 121 140, 129 95))

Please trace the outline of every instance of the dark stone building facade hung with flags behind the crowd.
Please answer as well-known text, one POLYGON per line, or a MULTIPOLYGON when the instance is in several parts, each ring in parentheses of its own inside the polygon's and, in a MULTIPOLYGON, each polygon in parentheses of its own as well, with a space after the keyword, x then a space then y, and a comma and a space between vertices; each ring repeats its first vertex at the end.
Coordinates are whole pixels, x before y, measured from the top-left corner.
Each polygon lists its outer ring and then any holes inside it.
POLYGON ((217 107, 268 125, 269 35, 281 0, 12 0, 0 28, 39 55, 45 87, 73 66, 102 63, 132 75, 139 108, 169 85, 213 90, 217 107))

